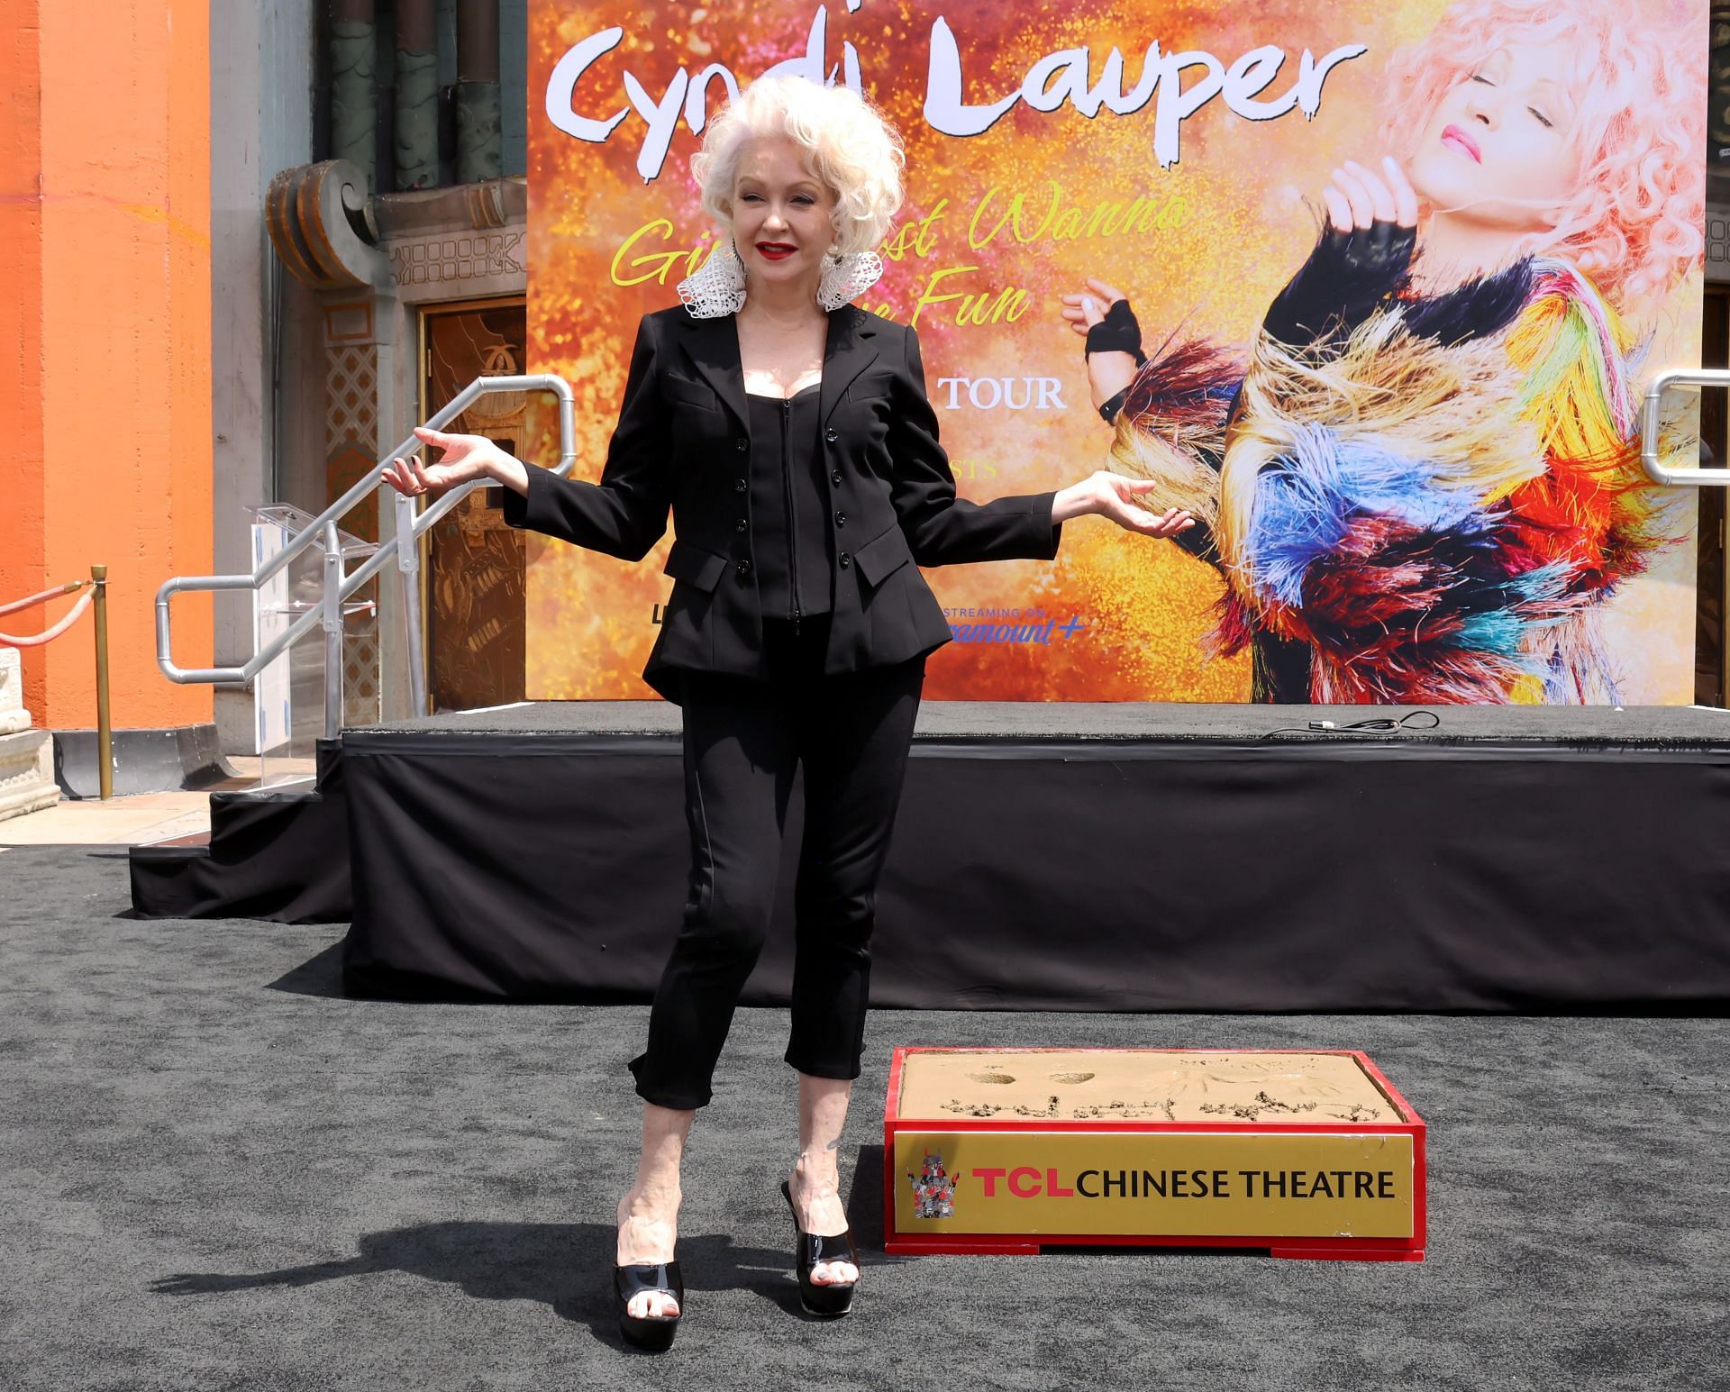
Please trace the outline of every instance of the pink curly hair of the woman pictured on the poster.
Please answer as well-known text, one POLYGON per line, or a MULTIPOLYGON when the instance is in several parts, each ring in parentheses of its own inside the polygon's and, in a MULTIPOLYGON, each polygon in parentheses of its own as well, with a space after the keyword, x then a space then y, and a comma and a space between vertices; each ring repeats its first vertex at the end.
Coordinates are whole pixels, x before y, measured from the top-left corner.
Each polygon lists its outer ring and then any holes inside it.
POLYGON ((1624 313, 1701 265, 1706 43, 1701 0, 1465 0, 1394 54, 1382 126, 1405 161, 1436 104, 1507 43, 1573 45, 1579 183, 1514 254, 1562 256, 1624 313))

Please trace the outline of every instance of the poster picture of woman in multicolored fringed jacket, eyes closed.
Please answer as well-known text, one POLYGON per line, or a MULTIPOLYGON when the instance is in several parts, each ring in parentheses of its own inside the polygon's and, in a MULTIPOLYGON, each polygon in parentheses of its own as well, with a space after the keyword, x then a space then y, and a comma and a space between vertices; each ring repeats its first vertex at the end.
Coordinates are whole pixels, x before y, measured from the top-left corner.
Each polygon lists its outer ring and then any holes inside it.
POLYGON ((1673 541, 1637 377, 1702 261, 1701 9, 1450 7, 1247 354, 1149 358, 1118 289, 1064 296, 1112 467, 1197 519, 1256 700, 1619 700, 1595 617, 1673 541))

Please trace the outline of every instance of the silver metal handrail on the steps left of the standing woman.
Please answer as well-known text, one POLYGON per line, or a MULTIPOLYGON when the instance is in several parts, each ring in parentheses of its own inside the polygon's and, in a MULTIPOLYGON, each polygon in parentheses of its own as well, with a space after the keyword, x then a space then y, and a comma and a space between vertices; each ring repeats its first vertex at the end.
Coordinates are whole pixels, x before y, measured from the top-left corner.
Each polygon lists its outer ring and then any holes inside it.
MULTIPOLYGON (((426 429, 439 431, 448 422, 462 415, 469 406, 472 406, 483 396, 505 391, 548 391, 559 398, 559 463, 550 470, 559 477, 566 477, 571 467, 576 463, 576 401, 571 394, 571 386, 562 377, 554 377, 550 374, 536 374, 529 377, 476 377, 467 387, 464 387, 457 396, 450 399, 446 406, 438 410, 431 420, 426 422, 426 429)), ((332 700, 329 692, 334 683, 341 681, 341 636, 343 636, 343 602, 353 595, 360 586, 372 579, 379 571, 382 571, 393 559, 398 564, 398 571, 403 576, 403 600, 405 600, 405 617, 408 619, 408 642, 410 642, 410 664, 408 680, 410 690, 415 700, 417 714, 426 712, 426 673, 420 669, 419 647, 419 578, 420 569, 419 546, 403 546, 403 538, 408 536, 415 541, 420 540, 422 533, 427 531, 434 522, 438 522, 446 512, 457 507, 469 493, 476 488, 486 488, 488 479, 476 479, 474 482, 462 484, 460 488, 450 489, 443 498, 439 498, 426 512, 415 515, 417 500, 396 495, 396 536, 379 546, 365 564, 353 574, 343 574, 343 552, 339 538, 336 533, 337 520, 346 515, 353 507, 368 498, 384 481, 384 470, 388 465, 412 455, 420 448, 420 441, 410 434, 401 444, 398 444, 391 453, 381 458, 372 470, 360 479, 348 493, 337 498, 330 507, 320 512, 311 522, 308 522, 299 533, 296 533, 280 552, 277 552, 270 560, 260 565, 256 571, 244 576, 175 576, 163 583, 161 590, 156 591, 156 666, 163 669, 163 676, 170 681, 178 681, 182 685, 194 683, 215 683, 215 685, 246 685, 258 673, 275 662, 284 652, 289 650, 296 642, 306 636, 315 626, 322 626, 325 631, 327 661, 325 661, 325 733, 336 735, 341 719, 341 709, 332 709, 332 700), (173 661, 173 640, 170 635, 168 621, 168 602, 189 590, 258 590, 272 576, 282 571, 289 562, 292 562, 301 552, 311 550, 313 546, 322 546, 325 553, 324 567, 324 597, 322 602, 301 614, 287 629, 279 633, 268 645, 254 652, 253 657, 239 667, 178 667, 173 661), (332 661, 332 657, 336 661, 332 661)))

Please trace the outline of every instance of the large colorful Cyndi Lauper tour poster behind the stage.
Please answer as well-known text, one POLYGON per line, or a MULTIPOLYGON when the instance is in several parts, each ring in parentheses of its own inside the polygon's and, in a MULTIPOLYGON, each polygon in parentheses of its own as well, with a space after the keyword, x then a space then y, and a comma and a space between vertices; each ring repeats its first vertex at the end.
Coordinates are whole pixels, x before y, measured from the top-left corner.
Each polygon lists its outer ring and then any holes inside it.
MULTIPOLYGON (((720 235, 706 121, 761 74, 844 83, 907 147, 858 303, 917 329, 960 496, 1112 469, 1199 519, 927 571, 955 638, 927 697, 1688 702, 1695 500, 1649 486, 1638 406, 1699 363, 1706 21, 533 0, 529 367, 573 384, 599 479, 637 322, 720 235)), ((650 695, 670 540, 531 541, 529 697, 650 695)))

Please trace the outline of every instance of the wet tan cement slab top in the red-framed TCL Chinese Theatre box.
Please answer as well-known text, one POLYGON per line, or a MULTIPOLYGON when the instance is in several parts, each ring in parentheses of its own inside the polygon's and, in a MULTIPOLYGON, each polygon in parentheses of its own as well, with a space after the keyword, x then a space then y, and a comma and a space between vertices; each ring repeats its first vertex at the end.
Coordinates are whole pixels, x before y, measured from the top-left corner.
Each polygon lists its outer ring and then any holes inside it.
POLYGON ((900 1121, 1398 1122, 1355 1058, 1208 1050, 908 1053, 900 1121))

